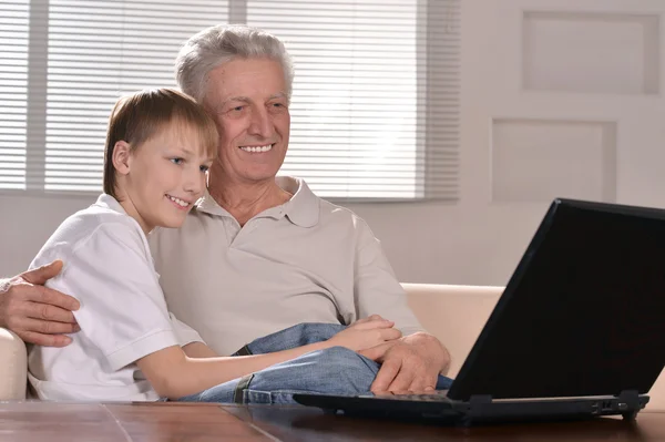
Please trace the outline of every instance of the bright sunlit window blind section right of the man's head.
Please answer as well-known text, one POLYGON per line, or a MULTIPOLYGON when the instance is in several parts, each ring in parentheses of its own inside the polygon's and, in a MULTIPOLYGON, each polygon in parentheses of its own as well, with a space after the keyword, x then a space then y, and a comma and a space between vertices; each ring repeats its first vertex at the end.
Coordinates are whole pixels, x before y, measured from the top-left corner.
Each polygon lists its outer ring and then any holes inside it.
POLYGON ((282 173, 324 197, 457 196, 459 1, 429 3, 247 2, 295 61, 282 173))

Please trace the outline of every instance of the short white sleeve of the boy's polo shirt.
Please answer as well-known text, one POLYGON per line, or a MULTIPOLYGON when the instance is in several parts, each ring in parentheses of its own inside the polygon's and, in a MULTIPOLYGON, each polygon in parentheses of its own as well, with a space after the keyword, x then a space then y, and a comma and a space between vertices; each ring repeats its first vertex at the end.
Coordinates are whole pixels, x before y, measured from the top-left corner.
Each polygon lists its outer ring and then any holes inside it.
POLYGON ((105 223, 66 257, 54 288, 75 297, 81 332, 119 370, 178 340, 141 233, 105 223))

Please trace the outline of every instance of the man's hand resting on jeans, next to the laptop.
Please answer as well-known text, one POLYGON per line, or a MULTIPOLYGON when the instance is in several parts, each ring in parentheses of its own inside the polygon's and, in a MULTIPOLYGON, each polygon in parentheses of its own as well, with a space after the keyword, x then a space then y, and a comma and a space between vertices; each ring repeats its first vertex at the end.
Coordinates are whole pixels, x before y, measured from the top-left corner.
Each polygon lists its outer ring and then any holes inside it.
POLYGON ((444 374, 450 366, 448 350, 437 338, 423 332, 359 353, 381 363, 371 384, 374 393, 432 391, 438 376, 444 374))

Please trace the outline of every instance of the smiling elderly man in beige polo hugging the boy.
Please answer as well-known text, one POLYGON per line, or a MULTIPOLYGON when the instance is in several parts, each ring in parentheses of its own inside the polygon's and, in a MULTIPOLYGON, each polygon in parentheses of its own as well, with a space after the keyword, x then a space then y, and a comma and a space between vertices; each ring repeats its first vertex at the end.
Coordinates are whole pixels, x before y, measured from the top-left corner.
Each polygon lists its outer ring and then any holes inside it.
MULTIPOLYGON (((208 194, 184 226, 151 235, 168 308, 221 354, 300 322, 339 327, 380 315, 403 337, 361 352, 380 363, 371 390, 434 388, 448 351, 407 307, 367 224, 318 198, 303 179, 276 178, 288 147, 294 75, 282 42, 248 27, 208 28, 183 47, 176 75, 214 116, 219 155, 208 194)), ((59 266, 4 284, 0 326, 28 342, 69 342, 78 302, 41 286, 59 266)))

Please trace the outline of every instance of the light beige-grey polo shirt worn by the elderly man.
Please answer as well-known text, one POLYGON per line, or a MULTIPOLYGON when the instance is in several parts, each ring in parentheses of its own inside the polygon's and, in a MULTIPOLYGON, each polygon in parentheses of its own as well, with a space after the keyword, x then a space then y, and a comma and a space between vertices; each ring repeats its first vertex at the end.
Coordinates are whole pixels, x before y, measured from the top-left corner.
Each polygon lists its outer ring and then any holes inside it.
POLYGON ((150 235, 168 309, 221 354, 296 323, 372 313, 422 330, 367 224, 301 179, 277 183, 291 199, 242 228, 206 194, 182 228, 150 235))

